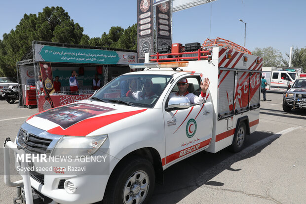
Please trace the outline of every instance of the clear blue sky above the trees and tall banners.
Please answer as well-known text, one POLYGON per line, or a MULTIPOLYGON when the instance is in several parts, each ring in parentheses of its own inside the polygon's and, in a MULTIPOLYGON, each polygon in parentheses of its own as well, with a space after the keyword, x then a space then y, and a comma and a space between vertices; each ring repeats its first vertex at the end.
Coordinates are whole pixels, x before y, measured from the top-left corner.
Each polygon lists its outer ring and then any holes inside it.
MULTIPOLYGON (((137 0, 5 0, 0 4, 0 39, 23 18, 45 6, 62 6, 89 37, 101 37, 112 26, 127 28, 137 21, 137 0)), ((173 43, 200 42, 216 37, 246 48, 272 46, 289 53, 306 47, 305 0, 216 0, 173 13, 173 43), (211 19, 211 23, 210 23, 211 19)))

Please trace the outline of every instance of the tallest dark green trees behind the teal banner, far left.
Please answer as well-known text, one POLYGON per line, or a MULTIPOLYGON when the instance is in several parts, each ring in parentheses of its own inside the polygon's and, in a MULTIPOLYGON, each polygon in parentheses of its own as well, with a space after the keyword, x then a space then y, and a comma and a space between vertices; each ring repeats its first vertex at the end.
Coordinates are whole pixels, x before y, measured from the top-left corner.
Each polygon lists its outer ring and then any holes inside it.
POLYGON ((25 14, 0 41, 0 76, 15 77, 16 62, 28 51, 32 41, 79 44, 83 28, 62 7, 45 7, 42 12, 25 14))

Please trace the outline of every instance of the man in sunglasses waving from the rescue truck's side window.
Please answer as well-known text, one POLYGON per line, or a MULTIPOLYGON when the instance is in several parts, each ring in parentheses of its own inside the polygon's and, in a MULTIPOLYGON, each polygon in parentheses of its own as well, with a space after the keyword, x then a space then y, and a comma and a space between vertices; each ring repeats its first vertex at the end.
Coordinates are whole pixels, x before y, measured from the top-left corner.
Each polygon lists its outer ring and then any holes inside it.
POLYGON ((179 82, 177 82, 177 86, 179 88, 179 91, 176 93, 170 93, 170 98, 175 96, 185 96, 187 97, 191 104, 202 104, 205 103, 205 96, 206 91, 209 87, 209 79, 205 78, 204 82, 201 82, 201 94, 199 96, 194 95, 193 93, 189 93, 187 88, 189 86, 187 79, 182 79, 179 82))

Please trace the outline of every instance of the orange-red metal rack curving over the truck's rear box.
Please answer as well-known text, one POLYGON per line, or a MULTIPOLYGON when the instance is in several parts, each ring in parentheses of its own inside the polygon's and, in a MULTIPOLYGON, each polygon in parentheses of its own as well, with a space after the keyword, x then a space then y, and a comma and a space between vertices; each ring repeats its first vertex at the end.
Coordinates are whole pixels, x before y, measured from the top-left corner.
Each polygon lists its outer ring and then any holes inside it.
POLYGON ((247 48, 223 38, 206 39, 202 44, 202 49, 205 50, 211 50, 213 47, 225 47, 246 54, 252 54, 247 48))

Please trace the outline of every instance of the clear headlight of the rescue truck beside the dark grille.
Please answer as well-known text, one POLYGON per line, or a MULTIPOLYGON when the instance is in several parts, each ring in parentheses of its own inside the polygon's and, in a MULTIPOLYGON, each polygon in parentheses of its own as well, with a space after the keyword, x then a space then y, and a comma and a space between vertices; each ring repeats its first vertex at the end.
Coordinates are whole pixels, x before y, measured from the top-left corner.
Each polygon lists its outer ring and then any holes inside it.
POLYGON ((107 134, 98 136, 64 136, 51 152, 51 156, 90 156, 94 154, 108 138, 107 134))

